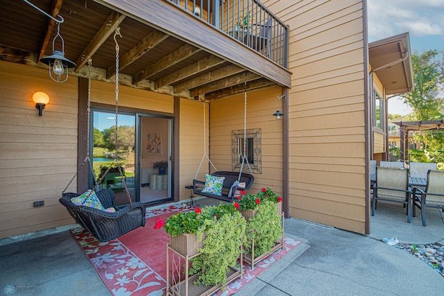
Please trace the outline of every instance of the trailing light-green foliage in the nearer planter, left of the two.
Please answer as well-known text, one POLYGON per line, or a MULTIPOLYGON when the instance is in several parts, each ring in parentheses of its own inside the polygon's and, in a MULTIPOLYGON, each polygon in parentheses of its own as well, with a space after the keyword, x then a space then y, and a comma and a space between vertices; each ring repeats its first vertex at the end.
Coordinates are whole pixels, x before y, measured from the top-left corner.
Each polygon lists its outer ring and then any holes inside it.
MULTIPOLYGON (((232 204, 229 204, 232 207, 232 204)), ((225 290, 229 266, 236 264, 246 231, 246 220, 239 211, 226 208, 218 220, 205 220, 205 244, 200 254, 191 259, 191 275, 199 273, 196 285, 216 286, 221 284, 225 290)))

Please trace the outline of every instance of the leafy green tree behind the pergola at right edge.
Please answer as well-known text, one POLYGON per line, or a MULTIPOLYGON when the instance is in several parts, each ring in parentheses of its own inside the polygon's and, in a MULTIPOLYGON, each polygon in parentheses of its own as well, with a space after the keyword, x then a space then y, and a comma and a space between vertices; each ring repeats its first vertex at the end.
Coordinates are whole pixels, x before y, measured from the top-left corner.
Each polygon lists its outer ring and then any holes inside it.
MULTIPOLYGON (((434 121, 444 115, 444 52, 425 51, 411 56, 413 66, 413 91, 402 95, 412 113, 409 121, 434 121)), ((420 141, 425 148, 438 150, 444 148, 444 132, 416 132, 415 141, 420 141)))

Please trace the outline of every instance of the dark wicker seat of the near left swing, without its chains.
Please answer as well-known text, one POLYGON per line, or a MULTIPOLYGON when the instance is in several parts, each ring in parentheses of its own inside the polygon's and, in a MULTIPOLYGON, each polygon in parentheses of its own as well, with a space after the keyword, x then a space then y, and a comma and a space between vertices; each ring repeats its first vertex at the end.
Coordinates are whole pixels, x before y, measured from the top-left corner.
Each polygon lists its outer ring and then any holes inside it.
POLYGON ((141 202, 134 202, 133 208, 130 204, 117 207, 114 191, 111 189, 97 191, 96 195, 105 209, 109 207, 116 209, 114 213, 108 213, 92 207, 78 206, 71 202, 71 198, 78 195, 80 194, 63 193, 59 202, 67 208, 69 214, 78 224, 99 241, 110 241, 139 226, 145 226, 146 208, 141 202))

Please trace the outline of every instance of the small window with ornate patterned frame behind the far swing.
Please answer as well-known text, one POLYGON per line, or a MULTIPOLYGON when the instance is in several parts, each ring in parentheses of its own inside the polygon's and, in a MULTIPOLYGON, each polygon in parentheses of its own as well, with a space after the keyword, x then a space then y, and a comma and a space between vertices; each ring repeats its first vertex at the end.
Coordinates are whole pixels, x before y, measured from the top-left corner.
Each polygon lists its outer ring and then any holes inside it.
POLYGON ((243 172, 251 173, 251 168, 253 173, 262 173, 262 143, 260 128, 246 130, 246 137, 244 137, 244 130, 232 131, 232 171, 241 170, 243 159, 243 172), (246 142, 245 147, 244 141, 246 142))

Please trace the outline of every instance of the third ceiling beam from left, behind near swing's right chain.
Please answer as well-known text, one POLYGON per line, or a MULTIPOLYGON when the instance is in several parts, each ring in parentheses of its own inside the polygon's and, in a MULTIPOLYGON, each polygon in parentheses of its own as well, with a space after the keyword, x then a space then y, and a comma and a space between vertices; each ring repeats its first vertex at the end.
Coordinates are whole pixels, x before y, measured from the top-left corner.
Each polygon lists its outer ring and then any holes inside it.
MULTIPOLYGON (((142 55, 148 53, 151 49, 155 48, 157 44, 167 39, 169 35, 162 33, 160 31, 153 31, 153 33, 146 36, 143 40, 137 43, 132 49, 126 52, 120 58, 119 69, 125 69, 130 64, 135 62, 138 58, 141 58, 142 55)), ((106 71, 107 78, 114 76, 116 73, 116 63, 112 64, 112 66, 108 67, 108 71, 106 71)))

